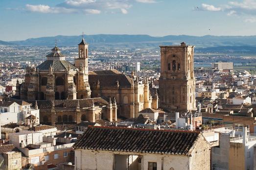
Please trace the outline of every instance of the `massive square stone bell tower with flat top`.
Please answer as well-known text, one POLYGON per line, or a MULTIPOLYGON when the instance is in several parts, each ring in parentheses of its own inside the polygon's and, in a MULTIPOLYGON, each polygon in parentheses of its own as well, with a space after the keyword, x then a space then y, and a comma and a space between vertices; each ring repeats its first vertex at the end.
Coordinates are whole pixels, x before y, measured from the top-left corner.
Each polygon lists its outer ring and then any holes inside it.
POLYGON ((196 110, 194 46, 160 46, 160 107, 168 110, 196 110))

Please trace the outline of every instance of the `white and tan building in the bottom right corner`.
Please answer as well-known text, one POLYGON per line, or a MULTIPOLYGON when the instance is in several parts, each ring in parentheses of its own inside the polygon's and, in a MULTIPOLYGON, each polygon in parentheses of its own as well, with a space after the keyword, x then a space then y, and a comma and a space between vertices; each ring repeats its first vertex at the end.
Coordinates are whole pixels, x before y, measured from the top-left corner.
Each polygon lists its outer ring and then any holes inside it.
POLYGON ((243 129, 219 131, 219 146, 212 147, 212 167, 216 170, 254 170, 256 136, 243 129))

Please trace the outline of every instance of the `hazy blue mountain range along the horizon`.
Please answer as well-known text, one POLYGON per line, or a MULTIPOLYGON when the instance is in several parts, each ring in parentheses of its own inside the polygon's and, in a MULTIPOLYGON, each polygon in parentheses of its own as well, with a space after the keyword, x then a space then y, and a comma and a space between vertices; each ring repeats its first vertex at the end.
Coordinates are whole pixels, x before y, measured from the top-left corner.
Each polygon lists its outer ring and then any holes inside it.
MULTIPOLYGON (((76 46, 81 41, 81 36, 56 36, 31 38, 23 41, 0 41, 0 45, 19 46, 53 46, 57 38, 58 46, 76 46)), ((97 34, 85 35, 87 43, 91 46, 109 47, 157 47, 159 45, 171 45, 186 42, 196 47, 218 47, 218 46, 243 46, 249 49, 256 46, 256 36, 188 36, 168 35, 163 37, 152 37, 149 35, 112 35, 97 34)), ((245 49, 247 51, 248 49, 245 49)))

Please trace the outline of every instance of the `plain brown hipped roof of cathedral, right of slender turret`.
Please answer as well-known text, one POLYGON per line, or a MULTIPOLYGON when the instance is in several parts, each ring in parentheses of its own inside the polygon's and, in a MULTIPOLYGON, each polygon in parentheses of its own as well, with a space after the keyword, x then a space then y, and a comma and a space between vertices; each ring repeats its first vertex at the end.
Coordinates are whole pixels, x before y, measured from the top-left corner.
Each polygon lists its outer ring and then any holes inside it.
POLYGON ((91 86, 97 85, 97 82, 101 87, 113 87, 116 86, 118 81, 119 86, 131 86, 132 78, 120 73, 117 70, 103 70, 103 71, 92 71, 89 73, 89 84, 91 86))

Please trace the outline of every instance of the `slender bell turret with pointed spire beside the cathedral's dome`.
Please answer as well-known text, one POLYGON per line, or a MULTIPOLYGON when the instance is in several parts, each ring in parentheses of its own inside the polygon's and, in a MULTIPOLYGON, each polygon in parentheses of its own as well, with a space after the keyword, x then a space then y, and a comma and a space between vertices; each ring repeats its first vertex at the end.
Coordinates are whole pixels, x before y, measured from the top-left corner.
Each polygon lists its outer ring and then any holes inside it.
POLYGON ((91 89, 88 82, 88 43, 84 40, 78 44, 78 58, 75 59, 75 67, 79 69, 77 73, 77 99, 91 98, 91 89))

